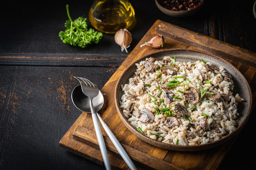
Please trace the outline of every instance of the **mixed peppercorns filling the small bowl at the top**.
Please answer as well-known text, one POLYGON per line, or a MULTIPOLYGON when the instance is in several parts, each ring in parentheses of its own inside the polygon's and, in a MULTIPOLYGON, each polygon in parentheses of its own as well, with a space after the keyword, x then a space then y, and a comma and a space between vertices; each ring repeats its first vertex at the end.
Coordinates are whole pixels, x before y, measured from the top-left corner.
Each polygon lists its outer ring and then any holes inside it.
POLYGON ((201 4, 200 0, 157 0, 165 9, 172 11, 189 11, 201 4))

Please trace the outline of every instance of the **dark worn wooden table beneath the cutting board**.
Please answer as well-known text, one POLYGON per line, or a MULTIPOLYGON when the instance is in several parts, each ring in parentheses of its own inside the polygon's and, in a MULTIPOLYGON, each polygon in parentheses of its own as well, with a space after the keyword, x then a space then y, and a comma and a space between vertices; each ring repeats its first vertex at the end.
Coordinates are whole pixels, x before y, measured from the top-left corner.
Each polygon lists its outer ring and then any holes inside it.
MULTIPOLYGON (((58 37, 67 20, 65 5, 69 4, 73 19, 88 17, 92 0, 12 1, 2 6, 0 169, 105 169, 59 147, 81 114, 70 97, 78 85, 72 76, 87 77, 102 88, 156 20, 256 52, 254 0, 207 1, 197 14, 185 18, 165 15, 154 0, 130 2, 137 23, 130 30, 133 41, 128 53, 121 52, 113 34, 103 34, 99 44, 87 48, 63 44, 58 37)), ((218 170, 256 169, 251 142, 256 136, 255 113, 254 108, 218 170)))

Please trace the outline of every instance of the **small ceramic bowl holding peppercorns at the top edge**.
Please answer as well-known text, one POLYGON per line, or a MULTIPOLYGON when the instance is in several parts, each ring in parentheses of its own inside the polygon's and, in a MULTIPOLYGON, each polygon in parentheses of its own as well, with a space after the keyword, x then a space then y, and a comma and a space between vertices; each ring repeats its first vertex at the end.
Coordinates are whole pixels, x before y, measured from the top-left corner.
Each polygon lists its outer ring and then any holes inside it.
POLYGON ((186 10, 186 11, 173 11, 170 9, 166 9, 159 4, 159 0, 155 0, 155 4, 157 5, 157 8, 163 13, 165 13, 166 15, 169 15, 171 17, 187 17, 189 15, 193 15, 197 13, 202 8, 204 4, 204 0, 200 0, 200 1, 201 1, 200 5, 198 5, 194 9, 186 10))

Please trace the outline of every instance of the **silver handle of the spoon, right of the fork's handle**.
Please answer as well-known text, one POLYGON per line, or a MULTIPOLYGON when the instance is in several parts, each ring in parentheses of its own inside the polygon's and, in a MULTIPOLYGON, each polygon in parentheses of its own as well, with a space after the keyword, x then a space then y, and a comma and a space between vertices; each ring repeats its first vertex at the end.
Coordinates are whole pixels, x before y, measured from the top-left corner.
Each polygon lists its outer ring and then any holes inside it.
POLYGON ((120 153, 121 157, 124 159, 126 164, 129 166, 129 168, 131 170, 137 170, 137 168, 133 164, 132 160, 130 159, 129 155, 126 153, 126 151, 124 150, 123 146, 120 144, 120 142, 115 137, 114 133, 109 129, 108 125, 104 122, 104 120, 101 118, 99 113, 96 112, 96 114, 97 114, 97 116, 99 118, 99 121, 101 122, 101 125, 103 126, 103 129, 108 134, 108 137, 110 138, 110 140, 112 141, 114 146, 117 148, 118 152, 120 153))

